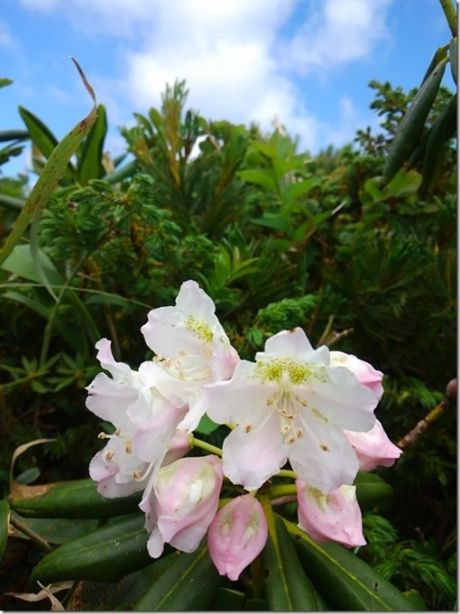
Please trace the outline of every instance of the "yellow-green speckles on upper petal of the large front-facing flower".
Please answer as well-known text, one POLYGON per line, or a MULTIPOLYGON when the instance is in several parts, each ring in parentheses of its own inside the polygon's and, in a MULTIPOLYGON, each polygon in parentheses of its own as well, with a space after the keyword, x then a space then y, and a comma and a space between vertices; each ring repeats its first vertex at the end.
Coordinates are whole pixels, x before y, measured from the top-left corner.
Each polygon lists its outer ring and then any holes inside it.
POLYGON ((326 369, 316 364, 292 361, 291 358, 275 358, 271 361, 258 361, 255 369, 255 377, 262 382, 281 383, 286 375, 293 386, 309 384, 313 381, 327 381, 326 369))

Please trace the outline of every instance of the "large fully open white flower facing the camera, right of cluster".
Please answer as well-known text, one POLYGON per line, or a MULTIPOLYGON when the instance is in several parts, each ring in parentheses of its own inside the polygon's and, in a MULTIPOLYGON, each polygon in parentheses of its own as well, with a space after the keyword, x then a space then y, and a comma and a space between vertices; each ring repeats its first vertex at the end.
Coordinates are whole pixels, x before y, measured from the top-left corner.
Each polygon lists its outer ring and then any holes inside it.
POLYGON ((259 488, 290 460, 298 476, 328 494, 352 484, 357 456, 343 433, 374 426, 380 394, 343 367, 329 350, 314 350, 300 328, 267 340, 256 362, 241 361, 232 379, 205 386, 201 411, 236 428, 223 446, 224 473, 259 488))

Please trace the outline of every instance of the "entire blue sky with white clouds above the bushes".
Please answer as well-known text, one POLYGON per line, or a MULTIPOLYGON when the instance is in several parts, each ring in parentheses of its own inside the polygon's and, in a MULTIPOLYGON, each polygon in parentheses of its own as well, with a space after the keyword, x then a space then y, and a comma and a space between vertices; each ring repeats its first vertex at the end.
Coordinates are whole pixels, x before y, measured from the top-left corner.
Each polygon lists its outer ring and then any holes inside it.
MULTIPOLYGON (((177 78, 206 119, 270 130, 276 118, 315 154, 376 129, 371 79, 416 87, 448 41, 439 0, 0 0, 0 77, 14 81, 0 130, 23 128, 20 104, 56 137, 86 115, 72 56, 107 107, 114 156, 118 127, 177 78)), ((4 172, 28 166, 29 152, 4 172)))

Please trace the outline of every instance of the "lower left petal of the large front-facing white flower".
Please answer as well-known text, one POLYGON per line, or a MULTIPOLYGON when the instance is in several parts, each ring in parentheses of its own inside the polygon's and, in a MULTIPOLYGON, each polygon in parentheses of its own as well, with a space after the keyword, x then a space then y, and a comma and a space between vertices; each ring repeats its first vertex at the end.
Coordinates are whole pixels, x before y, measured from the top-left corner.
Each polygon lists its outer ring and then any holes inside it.
POLYGON ((246 490, 259 488, 287 460, 277 415, 272 412, 251 430, 235 428, 226 436, 222 452, 226 477, 246 490))

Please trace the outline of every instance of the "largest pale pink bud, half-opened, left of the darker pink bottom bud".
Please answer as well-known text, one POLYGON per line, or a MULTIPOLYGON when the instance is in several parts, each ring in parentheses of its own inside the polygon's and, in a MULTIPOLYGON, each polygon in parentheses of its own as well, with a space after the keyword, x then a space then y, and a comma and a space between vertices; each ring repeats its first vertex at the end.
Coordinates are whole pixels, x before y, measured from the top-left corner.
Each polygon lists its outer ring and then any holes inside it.
POLYGON ((217 456, 175 460, 158 472, 149 501, 145 525, 152 531, 148 551, 153 558, 170 543, 182 552, 193 552, 206 535, 218 510, 223 481, 222 462, 217 456))

